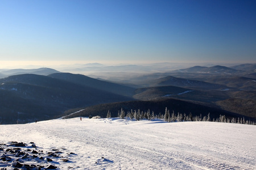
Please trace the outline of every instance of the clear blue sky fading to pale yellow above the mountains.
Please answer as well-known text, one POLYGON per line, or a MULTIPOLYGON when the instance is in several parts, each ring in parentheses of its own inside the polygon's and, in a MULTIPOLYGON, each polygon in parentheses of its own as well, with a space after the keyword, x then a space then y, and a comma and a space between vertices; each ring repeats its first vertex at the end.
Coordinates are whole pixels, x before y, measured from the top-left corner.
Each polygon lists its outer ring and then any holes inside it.
POLYGON ((0 67, 256 63, 256 1, 0 0, 0 67))

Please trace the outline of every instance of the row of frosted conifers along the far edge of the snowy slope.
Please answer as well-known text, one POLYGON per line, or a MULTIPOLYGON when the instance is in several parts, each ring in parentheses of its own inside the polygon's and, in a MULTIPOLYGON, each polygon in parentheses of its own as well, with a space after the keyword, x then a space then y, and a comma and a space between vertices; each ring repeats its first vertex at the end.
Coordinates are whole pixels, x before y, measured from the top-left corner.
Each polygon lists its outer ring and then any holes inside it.
MULTIPOLYGON (((164 114, 155 114, 154 111, 150 111, 150 109, 148 109, 148 111, 143 112, 140 109, 137 110, 133 110, 131 109, 131 111, 123 111, 123 109, 121 108, 121 111, 118 111, 118 117, 122 118, 122 119, 130 119, 130 120, 155 120, 155 119, 160 119, 160 120, 164 120, 167 122, 183 122, 183 121, 212 121, 212 122, 225 122, 225 123, 233 123, 233 124, 246 124, 246 125, 256 125, 255 122, 251 121, 251 120, 245 120, 245 118, 230 118, 230 117, 226 117, 225 115, 220 115, 220 117, 218 118, 210 118, 210 113, 208 113, 207 116, 192 116, 192 113, 186 114, 186 113, 174 113, 174 111, 172 111, 172 113, 170 113, 170 110, 167 109, 164 112, 164 114)), ((112 117, 111 116, 111 112, 108 111, 107 118, 112 117)))

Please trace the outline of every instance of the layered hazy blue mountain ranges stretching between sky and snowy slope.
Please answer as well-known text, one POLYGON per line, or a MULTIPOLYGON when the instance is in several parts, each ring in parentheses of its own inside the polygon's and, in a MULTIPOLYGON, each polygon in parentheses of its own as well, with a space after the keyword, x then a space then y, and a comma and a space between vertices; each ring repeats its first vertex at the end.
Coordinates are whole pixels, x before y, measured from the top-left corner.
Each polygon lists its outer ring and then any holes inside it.
MULTIPOLYGON (((168 63, 158 66, 168 68, 168 63)), ((105 66, 92 63, 84 67, 88 70, 97 67, 100 71, 105 66)), ((90 114, 102 111, 103 115, 108 105, 114 105, 117 110, 118 107, 133 109, 133 106, 134 109, 139 109, 138 106, 146 109, 150 104, 154 104, 150 108, 154 108, 155 112, 168 107, 177 112, 202 114, 196 108, 203 107, 200 110, 205 114, 214 110, 216 115, 217 112, 226 112, 256 119, 256 64, 193 66, 145 73, 147 69, 150 68, 137 65, 113 66, 114 72, 109 75, 104 72, 102 76, 94 78, 93 75, 61 73, 49 68, 2 69, 0 123, 48 120, 88 107, 90 114), (118 69, 127 72, 118 72, 118 69), (143 70, 143 73, 131 73, 128 70, 143 70), (171 105, 169 101, 180 103, 182 107, 171 105), (189 108, 191 105, 193 107, 189 108)))

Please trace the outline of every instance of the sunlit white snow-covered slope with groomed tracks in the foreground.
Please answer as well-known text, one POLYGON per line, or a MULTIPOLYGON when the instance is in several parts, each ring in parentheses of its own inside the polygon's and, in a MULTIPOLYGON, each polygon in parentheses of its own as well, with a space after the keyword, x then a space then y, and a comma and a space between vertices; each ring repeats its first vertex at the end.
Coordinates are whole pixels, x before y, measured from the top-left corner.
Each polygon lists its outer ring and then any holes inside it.
POLYGON ((34 142, 35 150, 61 151, 68 162, 35 162, 58 169, 256 169, 253 125, 73 118, 0 130, 0 143, 34 142))

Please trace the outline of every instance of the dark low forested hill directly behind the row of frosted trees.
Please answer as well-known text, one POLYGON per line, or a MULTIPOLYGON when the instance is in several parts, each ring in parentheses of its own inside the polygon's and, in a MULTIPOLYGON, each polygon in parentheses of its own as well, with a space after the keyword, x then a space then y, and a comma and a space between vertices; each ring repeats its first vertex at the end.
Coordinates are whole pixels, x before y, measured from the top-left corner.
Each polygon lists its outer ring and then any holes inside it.
MULTIPOLYGON (((121 109, 127 113, 130 112, 131 109, 133 111, 141 111, 141 112, 154 112, 154 114, 164 114, 165 109, 170 110, 170 112, 181 113, 181 114, 192 114, 192 116, 207 116, 210 113, 211 118, 218 118, 221 115, 225 115, 226 117, 241 117, 241 115, 227 112, 222 109, 207 107, 200 104, 190 103, 188 101, 176 100, 176 99, 166 99, 166 100, 151 100, 151 101, 124 101, 118 103, 110 103, 110 104, 99 104, 93 105, 90 107, 86 107, 84 109, 72 109, 65 112, 66 118, 72 117, 89 117, 89 116, 101 116, 106 117, 108 111, 111 113, 112 117, 118 117, 118 112, 121 112, 121 109), (77 112, 71 114, 73 112, 77 112), (70 114, 70 115, 69 115, 70 114)), ((249 119, 248 117, 245 117, 249 119)))

